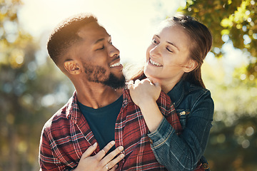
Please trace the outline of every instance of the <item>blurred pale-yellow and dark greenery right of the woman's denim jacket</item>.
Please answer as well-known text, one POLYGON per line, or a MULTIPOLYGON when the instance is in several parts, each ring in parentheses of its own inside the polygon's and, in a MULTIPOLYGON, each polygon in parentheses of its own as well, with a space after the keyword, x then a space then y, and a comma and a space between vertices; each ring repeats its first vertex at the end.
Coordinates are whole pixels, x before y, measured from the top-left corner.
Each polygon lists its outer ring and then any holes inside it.
POLYGON ((257 170, 257 81, 242 76, 246 67, 226 81, 221 58, 203 63, 202 69, 215 106, 205 152, 211 170, 257 170))

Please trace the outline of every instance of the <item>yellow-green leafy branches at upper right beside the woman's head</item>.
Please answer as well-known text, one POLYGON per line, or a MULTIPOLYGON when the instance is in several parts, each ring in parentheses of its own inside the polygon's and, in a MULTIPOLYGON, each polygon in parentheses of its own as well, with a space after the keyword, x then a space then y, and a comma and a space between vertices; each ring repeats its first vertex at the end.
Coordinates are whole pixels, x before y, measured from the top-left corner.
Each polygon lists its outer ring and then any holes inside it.
POLYGON ((232 42, 248 56, 246 76, 257 77, 257 2, 255 0, 186 0, 178 11, 196 17, 213 34, 213 53, 232 42), (248 53, 247 53, 248 52, 248 53))

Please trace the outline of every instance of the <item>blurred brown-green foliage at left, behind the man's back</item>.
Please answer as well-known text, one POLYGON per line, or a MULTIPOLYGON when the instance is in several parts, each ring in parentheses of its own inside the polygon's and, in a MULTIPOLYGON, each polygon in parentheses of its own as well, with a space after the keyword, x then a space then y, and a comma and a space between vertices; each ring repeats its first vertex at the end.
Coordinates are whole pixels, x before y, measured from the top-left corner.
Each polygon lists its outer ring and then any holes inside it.
POLYGON ((41 129, 71 88, 19 27, 19 6, 19 0, 0 5, 0 170, 28 171, 39 170, 41 129))

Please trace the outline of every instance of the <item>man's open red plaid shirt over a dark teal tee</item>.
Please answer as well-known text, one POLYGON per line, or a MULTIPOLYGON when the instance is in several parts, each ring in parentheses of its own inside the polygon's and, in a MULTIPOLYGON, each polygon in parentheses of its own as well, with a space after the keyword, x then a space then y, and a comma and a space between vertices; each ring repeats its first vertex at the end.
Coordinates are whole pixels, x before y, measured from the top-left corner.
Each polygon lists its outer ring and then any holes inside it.
MULTIPOLYGON (((166 170, 153 155, 143 115, 124 90, 123 105, 115 125, 116 147, 124 146, 124 159, 117 170, 166 170)), ((161 113, 175 130, 181 132, 181 124, 170 98, 161 92, 157 100, 161 113)), ((177 133, 178 133, 177 132, 177 133)), ((89 123, 79 110, 76 92, 63 108, 44 125, 41 134, 39 162, 41 170, 74 169, 83 152, 96 142, 89 123)), ((99 152, 97 147, 95 154, 99 152)))

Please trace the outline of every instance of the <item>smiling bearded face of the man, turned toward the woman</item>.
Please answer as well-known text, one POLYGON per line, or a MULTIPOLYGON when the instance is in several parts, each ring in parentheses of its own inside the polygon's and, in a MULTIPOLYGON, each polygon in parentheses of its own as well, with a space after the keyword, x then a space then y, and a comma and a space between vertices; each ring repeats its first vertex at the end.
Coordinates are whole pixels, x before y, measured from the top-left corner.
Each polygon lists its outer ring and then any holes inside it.
MULTIPOLYGON (((81 62, 85 78, 112 88, 125 85, 119 50, 111 43, 111 36, 96 22, 82 27, 78 35, 83 38, 70 53, 81 62)), ((84 75, 83 75, 84 76, 84 75)))

